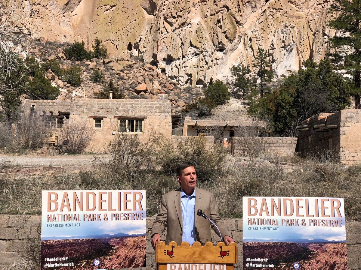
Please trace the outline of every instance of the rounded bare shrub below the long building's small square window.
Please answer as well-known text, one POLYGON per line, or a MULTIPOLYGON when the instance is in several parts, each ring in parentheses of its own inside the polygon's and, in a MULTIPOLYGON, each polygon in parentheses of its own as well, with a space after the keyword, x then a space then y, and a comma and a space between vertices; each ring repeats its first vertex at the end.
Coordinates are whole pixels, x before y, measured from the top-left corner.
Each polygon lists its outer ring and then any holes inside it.
POLYGON ((60 131, 62 149, 68 154, 81 154, 89 146, 95 129, 87 122, 64 125, 60 131))

